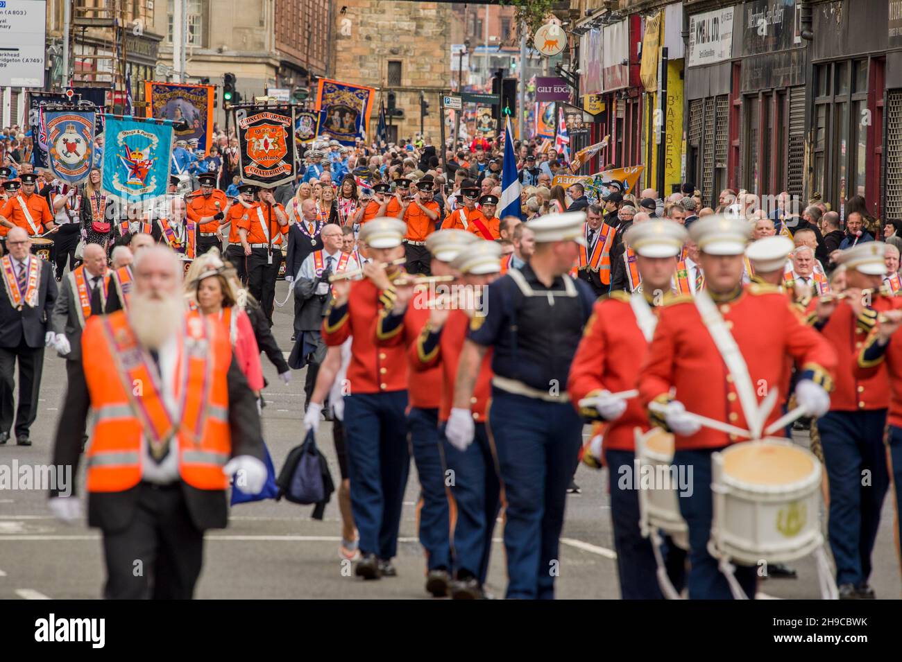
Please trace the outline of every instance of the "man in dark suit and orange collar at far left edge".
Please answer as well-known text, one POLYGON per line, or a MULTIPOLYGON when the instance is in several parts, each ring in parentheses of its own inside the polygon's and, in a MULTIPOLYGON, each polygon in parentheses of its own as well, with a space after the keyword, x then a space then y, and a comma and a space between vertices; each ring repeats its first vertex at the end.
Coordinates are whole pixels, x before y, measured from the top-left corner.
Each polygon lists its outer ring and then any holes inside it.
MULTIPOLYGON (((46 208, 47 202, 33 194, 23 205, 32 204, 36 197, 46 208)), ((16 443, 31 446, 29 431, 38 415, 44 346, 51 347, 56 339, 50 320, 57 286, 50 263, 31 254, 32 240, 24 228, 12 228, 6 246, 9 253, 0 258, 5 289, 5 296, 0 296, 0 444, 10 438, 15 413, 16 443), (14 410, 16 364, 19 394, 14 410)))

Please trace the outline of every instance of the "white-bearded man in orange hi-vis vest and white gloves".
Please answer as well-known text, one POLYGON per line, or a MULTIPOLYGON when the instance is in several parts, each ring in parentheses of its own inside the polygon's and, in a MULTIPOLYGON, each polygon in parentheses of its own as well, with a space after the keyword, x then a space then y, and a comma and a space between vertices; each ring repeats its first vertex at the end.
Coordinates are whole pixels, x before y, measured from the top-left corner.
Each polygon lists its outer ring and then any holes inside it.
MULTIPOLYGON (((92 315, 82 333, 97 416, 87 522, 103 531, 107 598, 187 599, 204 531, 226 527, 229 476, 247 494, 265 483, 260 416, 226 330, 185 309, 175 253, 143 249, 133 273, 128 311, 92 315)), ((53 457, 77 474, 77 444, 53 457)), ((63 494, 51 510, 74 520, 78 497, 63 494)))

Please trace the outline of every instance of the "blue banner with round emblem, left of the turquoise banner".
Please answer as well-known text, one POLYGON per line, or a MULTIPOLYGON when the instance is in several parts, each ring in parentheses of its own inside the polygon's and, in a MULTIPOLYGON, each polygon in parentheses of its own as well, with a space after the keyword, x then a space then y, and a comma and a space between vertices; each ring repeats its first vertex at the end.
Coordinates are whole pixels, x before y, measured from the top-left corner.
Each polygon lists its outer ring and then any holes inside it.
POLYGON ((94 113, 44 111, 47 166, 53 177, 75 186, 91 172, 94 160, 94 113))

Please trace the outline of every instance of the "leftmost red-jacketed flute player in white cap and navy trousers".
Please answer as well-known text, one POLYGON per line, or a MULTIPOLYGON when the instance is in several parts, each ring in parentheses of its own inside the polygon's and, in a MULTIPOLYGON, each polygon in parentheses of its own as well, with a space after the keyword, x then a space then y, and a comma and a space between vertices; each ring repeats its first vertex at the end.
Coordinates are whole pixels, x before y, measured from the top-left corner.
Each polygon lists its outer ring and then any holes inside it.
POLYGON ((392 264, 403 258, 401 240, 407 226, 392 218, 373 219, 360 234, 374 262, 364 265, 364 280, 336 280, 334 300, 323 322, 327 346, 352 337, 347 370, 345 434, 354 521, 360 531, 361 559, 356 576, 395 576, 391 563, 398 546, 398 528, 410 458, 407 449, 407 355, 403 347, 377 347, 376 322, 386 308, 412 295, 395 287, 403 269, 392 264), (390 263, 388 267, 381 263, 390 263))

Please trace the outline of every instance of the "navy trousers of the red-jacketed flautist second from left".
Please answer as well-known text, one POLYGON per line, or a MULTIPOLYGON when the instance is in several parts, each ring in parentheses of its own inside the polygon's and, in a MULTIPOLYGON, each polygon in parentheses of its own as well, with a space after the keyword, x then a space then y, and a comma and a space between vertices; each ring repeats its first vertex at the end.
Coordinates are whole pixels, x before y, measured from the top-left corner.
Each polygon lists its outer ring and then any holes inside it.
POLYGON ((419 543, 427 567, 451 569, 451 544, 445 471, 438 440, 438 410, 411 407, 407 415, 410 449, 419 474, 419 543))

